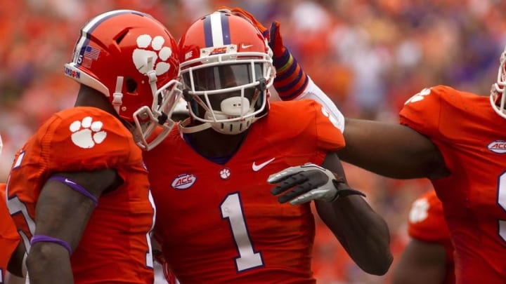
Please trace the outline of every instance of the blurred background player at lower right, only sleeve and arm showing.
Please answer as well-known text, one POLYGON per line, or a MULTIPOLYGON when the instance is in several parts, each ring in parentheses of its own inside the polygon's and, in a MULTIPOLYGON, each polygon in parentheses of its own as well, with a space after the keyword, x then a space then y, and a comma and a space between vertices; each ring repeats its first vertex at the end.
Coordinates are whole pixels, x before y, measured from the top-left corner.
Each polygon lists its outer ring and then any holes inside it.
POLYGON ((411 241, 392 275, 393 284, 455 283, 453 245, 435 191, 413 202, 408 218, 411 241))

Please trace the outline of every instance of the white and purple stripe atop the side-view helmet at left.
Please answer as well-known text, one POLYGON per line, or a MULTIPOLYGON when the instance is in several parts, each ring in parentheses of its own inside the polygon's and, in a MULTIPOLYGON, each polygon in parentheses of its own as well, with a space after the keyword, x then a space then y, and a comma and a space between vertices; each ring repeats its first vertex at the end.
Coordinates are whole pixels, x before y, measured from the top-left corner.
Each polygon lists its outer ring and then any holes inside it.
POLYGON ((82 58, 84 55, 84 51, 86 49, 86 46, 88 46, 89 43, 89 34, 91 34, 102 22, 107 20, 108 18, 115 17, 117 15, 123 15, 123 14, 136 14, 136 15, 147 15, 144 13, 138 13, 137 11, 133 10, 116 10, 116 11, 110 11, 108 13, 103 13, 95 18, 89 20, 81 29, 81 36, 79 36, 79 39, 77 39, 77 43, 74 48, 73 58, 72 62, 77 63, 79 65, 79 57, 82 58))

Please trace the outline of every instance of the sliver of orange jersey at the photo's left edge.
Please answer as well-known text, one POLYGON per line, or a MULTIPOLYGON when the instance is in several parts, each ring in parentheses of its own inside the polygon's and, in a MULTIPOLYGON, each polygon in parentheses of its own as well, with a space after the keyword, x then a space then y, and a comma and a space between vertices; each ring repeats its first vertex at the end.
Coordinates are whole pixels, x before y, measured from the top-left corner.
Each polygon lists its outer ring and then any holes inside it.
POLYGON ((0 283, 4 283, 7 264, 20 242, 18 229, 7 209, 5 189, 6 184, 0 184, 0 283))

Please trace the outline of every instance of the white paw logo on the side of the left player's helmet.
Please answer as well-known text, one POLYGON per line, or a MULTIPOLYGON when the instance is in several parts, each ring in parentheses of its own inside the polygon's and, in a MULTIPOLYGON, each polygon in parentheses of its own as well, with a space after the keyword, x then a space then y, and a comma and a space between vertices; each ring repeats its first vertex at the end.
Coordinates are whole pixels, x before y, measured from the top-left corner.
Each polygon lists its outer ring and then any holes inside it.
POLYGON ((150 71, 149 66, 146 65, 147 58, 153 57, 155 64, 155 72, 157 76, 166 73, 170 69, 170 64, 165 62, 172 55, 172 49, 168 46, 164 46, 165 39, 163 36, 155 36, 152 38, 149 34, 143 34, 137 38, 137 47, 134 50, 132 58, 134 65, 142 74, 150 71), (150 49, 153 50, 150 50, 150 49), (162 60, 158 62, 159 59, 162 60))

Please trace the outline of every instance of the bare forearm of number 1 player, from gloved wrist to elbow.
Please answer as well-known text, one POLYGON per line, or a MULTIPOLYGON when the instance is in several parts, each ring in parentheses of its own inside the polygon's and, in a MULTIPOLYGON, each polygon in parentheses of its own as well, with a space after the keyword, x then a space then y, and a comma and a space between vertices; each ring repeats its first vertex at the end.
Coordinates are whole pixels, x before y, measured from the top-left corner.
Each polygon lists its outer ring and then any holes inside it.
POLYGON ((361 196, 338 198, 334 203, 316 201, 316 208, 361 269, 375 275, 388 271, 393 259, 388 226, 361 196))

